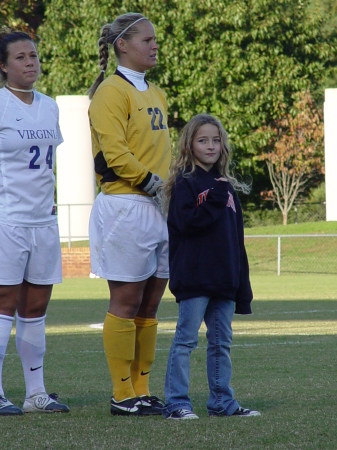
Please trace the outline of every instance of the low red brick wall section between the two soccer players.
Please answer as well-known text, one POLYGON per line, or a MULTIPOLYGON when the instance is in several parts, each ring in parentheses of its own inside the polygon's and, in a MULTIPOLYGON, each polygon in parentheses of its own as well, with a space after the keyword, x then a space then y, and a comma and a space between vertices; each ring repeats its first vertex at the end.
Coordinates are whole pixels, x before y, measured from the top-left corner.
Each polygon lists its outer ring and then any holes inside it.
POLYGON ((62 248, 62 274, 64 278, 88 277, 90 272, 89 247, 62 248))

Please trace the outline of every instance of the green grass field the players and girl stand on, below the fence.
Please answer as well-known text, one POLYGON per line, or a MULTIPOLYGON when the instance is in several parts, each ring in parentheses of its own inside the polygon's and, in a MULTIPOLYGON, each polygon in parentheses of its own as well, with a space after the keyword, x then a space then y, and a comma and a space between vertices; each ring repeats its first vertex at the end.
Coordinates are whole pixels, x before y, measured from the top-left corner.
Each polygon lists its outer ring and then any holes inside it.
MULTIPOLYGON (((192 353, 190 395, 198 421, 112 417, 102 324, 108 289, 101 279, 66 279, 47 314, 45 384, 68 415, 0 420, 9 449, 324 449, 337 448, 337 277, 252 275, 253 315, 235 316, 232 385, 238 401, 262 417, 209 418, 206 338, 192 353), (91 325, 96 327, 92 327, 91 325)), ((158 314, 152 393, 163 397, 177 305, 166 293, 158 314)), ((20 360, 11 336, 4 364, 7 396, 22 405, 20 360)))

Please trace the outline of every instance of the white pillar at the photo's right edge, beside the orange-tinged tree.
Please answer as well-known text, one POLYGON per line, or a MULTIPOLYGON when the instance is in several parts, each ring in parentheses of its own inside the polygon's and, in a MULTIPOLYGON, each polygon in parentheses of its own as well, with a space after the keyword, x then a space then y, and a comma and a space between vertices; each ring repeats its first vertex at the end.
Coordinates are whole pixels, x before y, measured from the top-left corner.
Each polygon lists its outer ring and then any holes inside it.
POLYGON ((324 147, 326 220, 337 221, 337 89, 325 89, 324 147))

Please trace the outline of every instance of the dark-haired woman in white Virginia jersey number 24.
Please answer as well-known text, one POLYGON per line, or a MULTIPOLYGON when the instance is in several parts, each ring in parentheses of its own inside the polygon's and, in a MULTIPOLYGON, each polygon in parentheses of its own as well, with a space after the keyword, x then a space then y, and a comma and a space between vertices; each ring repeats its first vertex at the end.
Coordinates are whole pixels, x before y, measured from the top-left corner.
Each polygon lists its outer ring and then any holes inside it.
POLYGON ((54 100, 33 89, 34 41, 0 30, 0 416, 68 412, 44 386, 45 317, 62 281, 54 206, 55 150, 62 142, 54 100), (22 409, 7 400, 2 367, 16 314, 16 347, 26 384, 22 409))

